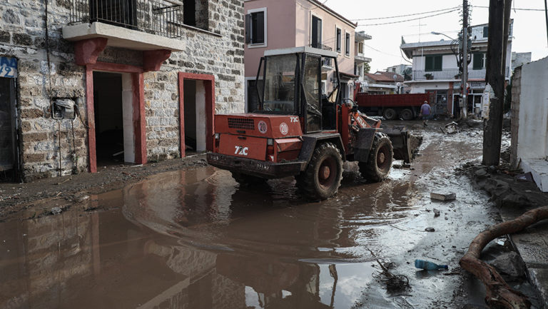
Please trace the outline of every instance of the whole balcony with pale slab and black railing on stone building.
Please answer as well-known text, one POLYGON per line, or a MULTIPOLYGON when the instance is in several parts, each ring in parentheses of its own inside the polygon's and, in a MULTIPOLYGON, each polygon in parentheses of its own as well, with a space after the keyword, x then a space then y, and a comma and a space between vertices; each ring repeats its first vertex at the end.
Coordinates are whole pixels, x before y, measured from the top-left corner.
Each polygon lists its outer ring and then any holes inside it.
POLYGON ((182 51, 185 28, 208 32, 207 6, 204 12, 195 7, 185 12, 178 0, 71 0, 70 23, 64 26, 63 37, 102 38, 108 40, 107 46, 140 51, 182 51))

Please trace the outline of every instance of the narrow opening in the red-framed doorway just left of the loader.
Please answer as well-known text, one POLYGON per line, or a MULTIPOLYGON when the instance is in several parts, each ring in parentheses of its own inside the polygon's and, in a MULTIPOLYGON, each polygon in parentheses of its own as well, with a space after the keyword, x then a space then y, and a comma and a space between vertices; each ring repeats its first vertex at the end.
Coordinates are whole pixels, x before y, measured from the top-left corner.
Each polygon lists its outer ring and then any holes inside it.
POLYGON ((193 79, 186 79, 183 86, 185 152, 188 156, 206 149, 205 87, 203 81, 193 79))

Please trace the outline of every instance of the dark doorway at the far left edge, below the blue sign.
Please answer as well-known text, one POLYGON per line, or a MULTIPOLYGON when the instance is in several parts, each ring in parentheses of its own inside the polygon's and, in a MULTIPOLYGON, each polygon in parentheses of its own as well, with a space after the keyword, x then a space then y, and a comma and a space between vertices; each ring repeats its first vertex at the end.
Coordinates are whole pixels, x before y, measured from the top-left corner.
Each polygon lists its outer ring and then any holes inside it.
POLYGON ((15 181, 18 170, 15 79, 0 77, 0 180, 15 181))

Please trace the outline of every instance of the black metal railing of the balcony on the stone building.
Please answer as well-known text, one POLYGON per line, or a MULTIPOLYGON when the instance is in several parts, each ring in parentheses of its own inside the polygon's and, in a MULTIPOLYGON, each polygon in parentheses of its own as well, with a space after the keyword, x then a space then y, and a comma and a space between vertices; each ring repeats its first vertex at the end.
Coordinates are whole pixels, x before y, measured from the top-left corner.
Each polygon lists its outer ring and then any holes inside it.
POLYGON ((71 24, 94 21, 168 38, 181 37, 183 4, 175 0, 71 0, 71 24))

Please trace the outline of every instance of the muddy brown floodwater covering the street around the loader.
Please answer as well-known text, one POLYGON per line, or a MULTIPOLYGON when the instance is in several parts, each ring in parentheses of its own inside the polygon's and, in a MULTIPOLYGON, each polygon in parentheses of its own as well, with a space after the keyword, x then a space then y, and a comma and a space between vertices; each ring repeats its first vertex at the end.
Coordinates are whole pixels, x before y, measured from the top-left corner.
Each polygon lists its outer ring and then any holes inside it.
POLYGON ((412 169, 367 183, 346 164, 319 203, 293 178, 240 186, 203 167, 92 196, 94 211, 1 223, 0 308, 482 308, 482 285, 457 267, 495 216, 455 174, 480 148, 473 131, 427 133, 412 169), (388 293, 377 259, 411 288, 388 293))

